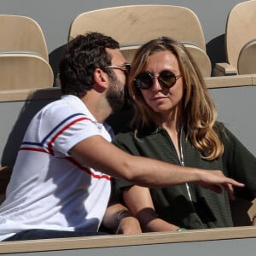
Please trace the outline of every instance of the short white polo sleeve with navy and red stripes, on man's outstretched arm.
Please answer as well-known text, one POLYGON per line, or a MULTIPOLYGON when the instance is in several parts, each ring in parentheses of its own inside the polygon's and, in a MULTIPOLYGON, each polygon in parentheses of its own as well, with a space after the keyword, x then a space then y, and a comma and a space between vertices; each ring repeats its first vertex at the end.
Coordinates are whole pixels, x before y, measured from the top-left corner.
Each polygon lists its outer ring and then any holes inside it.
POLYGON ((65 157, 73 146, 82 140, 101 136, 101 127, 95 120, 73 109, 46 109, 40 117, 40 134, 43 147, 49 154, 65 157))

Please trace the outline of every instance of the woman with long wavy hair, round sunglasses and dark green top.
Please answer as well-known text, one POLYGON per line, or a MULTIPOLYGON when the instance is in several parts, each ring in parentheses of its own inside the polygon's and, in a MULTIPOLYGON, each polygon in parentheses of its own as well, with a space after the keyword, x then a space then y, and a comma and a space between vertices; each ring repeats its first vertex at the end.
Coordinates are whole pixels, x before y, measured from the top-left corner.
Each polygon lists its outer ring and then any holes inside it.
MULTIPOLYGON (((183 44, 164 37, 138 49, 128 90, 134 131, 115 138, 119 148, 182 166, 222 170, 256 195, 256 159, 216 120, 204 79, 183 44)), ((224 189, 217 194, 195 183, 147 189, 119 180, 115 187, 143 231, 233 226, 224 189)))

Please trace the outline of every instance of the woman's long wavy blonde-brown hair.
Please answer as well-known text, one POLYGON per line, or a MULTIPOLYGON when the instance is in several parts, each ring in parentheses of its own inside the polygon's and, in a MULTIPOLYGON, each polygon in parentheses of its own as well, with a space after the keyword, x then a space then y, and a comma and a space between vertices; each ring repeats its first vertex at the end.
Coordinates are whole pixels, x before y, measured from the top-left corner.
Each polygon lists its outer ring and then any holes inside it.
POLYGON ((157 38, 143 44, 132 61, 131 75, 128 80, 128 91, 135 110, 132 124, 137 130, 154 123, 155 114, 143 99, 141 90, 134 85, 138 73, 143 72, 149 55, 169 50, 177 57, 180 72, 183 76, 183 113, 187 125, 187 139, 198 148, 201 157, 206 160, 217 159, 224 152, 224 145, 213 129, 217 111, 209 95, 205 81, 195 61, 182 43, 172 38, 157 38))

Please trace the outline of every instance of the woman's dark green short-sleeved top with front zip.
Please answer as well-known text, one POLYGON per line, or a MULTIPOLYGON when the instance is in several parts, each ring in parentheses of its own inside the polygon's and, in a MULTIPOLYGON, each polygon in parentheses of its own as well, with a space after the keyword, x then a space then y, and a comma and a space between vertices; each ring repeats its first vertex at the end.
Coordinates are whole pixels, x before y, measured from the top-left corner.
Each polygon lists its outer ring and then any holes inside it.
MULTIPOLYGON (((228 177, 246 184, 246 189, 236 192, 256 191, 256 159, 247 148, 222 124, 216 125, 216 131, 224 143, 224 154, 218 160, 203 160, 199 151, 186 140, 183 129, 181 143, 184 166, 203 169, 222 170, 228 177)), ((171 138, 164 129, 143 131, 143 135, 134 137, 133 132, 120 133, 113 143, 126 152, 163 160, 180 165, 177 152, 171 138)), ((131 186, 125 181, 115 181, 114 189, 131 186)), ((172 186, 166 189, 150 189, 156 213, 167 222, 187 229, 218 228, 233 226, 230 201, 226 191, 217 194, 203 189, 196 183, 189 183, 190 195, 186 185, 172 186)))

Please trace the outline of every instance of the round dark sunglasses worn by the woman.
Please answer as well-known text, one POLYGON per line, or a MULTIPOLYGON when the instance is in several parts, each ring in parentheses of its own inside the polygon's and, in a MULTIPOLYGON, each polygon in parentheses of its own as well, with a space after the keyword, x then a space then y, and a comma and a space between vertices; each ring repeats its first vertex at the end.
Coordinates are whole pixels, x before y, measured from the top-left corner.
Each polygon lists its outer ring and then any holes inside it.
POLYGON ((134 79, 133 81, 137 88, 147 90, 152 87, 153 79, 157 79, 162 88, 171 88, 174 84, 176 84, 177 79, 181 77, 182 75, 175 76, 175 74, 171 71, 164 70, 160 73, 159 76, 154 76, 152 73, 149 72, 139 73, 136 79, 134 79))

